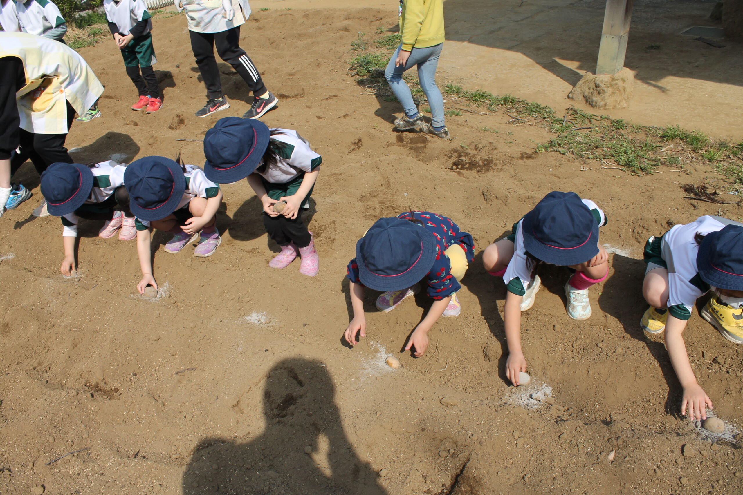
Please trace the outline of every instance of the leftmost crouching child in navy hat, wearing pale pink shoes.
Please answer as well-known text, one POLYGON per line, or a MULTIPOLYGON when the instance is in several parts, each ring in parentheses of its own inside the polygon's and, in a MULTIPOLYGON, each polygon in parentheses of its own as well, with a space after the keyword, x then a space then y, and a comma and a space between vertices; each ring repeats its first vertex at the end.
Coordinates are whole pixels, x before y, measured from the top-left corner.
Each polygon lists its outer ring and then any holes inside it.
POLYGON ((77 272, 75 238, 80 218, 106 220, 98 232, 103 239, 119 232, 119 240, 134 239, 134 216, 129 212, 124 189, 126 165, 101 163, 52 163, 42 172, 41 190, 49 214, 62 218, 65 258, 59 271, 69 277, 77 272))

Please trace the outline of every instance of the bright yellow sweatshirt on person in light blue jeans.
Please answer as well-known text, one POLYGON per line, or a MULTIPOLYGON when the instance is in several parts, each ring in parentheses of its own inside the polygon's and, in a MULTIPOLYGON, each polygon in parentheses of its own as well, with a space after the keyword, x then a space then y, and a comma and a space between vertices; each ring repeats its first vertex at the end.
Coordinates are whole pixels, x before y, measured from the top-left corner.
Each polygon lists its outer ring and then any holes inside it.
POLYGON ((400 0, 403 50, 444 42, 444 0, 400 0))

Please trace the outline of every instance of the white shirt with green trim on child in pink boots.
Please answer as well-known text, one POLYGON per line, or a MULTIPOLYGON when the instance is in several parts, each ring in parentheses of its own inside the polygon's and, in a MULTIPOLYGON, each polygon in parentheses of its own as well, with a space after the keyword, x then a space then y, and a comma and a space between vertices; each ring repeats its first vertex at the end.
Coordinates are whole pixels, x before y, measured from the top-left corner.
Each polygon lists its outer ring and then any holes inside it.
POLYGON ((260 174, 266 182, 288 183, 299 174, 314 171, 322 165, 322 157, 312 151, 310 143, 296 131, 291 129, 271 129, 271 131, 281 131, 280 134, 273 134, 271 139, 285 142, 287 146, 282 154, 279 154, 279 160, 275 166, 266 167, 266 170, 262 172, 256 170, 256 174, 260 174))

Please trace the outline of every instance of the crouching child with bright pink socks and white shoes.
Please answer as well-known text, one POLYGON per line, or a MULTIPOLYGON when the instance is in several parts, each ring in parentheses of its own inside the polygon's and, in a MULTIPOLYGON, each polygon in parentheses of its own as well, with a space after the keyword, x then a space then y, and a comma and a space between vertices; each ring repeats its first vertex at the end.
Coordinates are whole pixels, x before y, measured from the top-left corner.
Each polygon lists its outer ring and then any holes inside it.
POLYGON ((526 371, 519 327, 521 312, 531 308, 542 285, 537 267, 550 263, 574 270, 565 282, 568 316, 589 318, 588 287, 609 275, 609 255, 599 243, 599 227, 604 225, 606 215, 593 201, 582 200, 574 192, 552 191, 513 224, 509 236, 484 250, 485 269, 506 283, 506 376, 514 385, 519 385, 519 372, 526 371))

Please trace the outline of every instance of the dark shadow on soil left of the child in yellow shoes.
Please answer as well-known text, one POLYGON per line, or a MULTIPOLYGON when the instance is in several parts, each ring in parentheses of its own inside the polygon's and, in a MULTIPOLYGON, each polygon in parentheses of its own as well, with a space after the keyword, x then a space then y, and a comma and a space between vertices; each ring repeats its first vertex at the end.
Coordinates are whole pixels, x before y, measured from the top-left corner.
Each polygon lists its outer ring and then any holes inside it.
POLYGON ((660 341, 648 338, 640 328, 640 319, 648 307, 643 298, 643 278, 645 277, 645 263, 621 255, 611 255, 609 261, 613 272, 606 279, 598 303, 603 312, 619 320, 624 331, 637 341, 643 342, 650 351, 650 355, 658 361, 661 373, 668 385, 668 395, 664 410, 667 414, 678 416, 681 406, 683 390, 673 370, 671 360, 663 344, 663 335, 658 335, 660 341))

